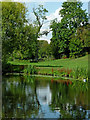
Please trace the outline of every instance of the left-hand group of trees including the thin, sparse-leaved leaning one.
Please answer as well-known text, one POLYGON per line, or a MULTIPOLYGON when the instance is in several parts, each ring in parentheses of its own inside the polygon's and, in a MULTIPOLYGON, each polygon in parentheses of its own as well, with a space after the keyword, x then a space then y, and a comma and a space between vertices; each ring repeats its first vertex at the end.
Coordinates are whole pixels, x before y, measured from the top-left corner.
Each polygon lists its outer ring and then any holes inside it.
POLYGON ((6 68, 9 59, 38 58, 38 38, 46 34, 40 29, 47 19, 48 12, 43 5, 33 9, 36 21, 30 24, 26 18, 27 8, 19 2, 1 2, 2 4, 2 65, 6 68))

